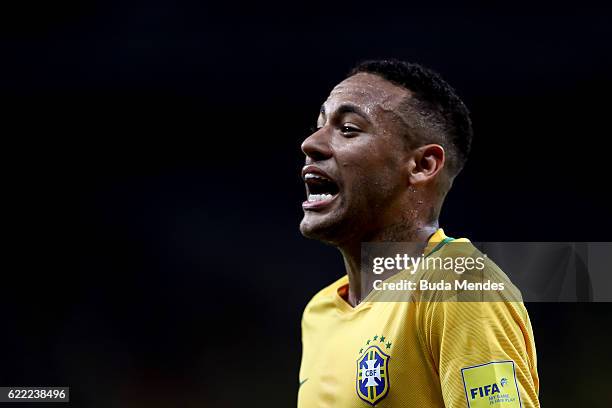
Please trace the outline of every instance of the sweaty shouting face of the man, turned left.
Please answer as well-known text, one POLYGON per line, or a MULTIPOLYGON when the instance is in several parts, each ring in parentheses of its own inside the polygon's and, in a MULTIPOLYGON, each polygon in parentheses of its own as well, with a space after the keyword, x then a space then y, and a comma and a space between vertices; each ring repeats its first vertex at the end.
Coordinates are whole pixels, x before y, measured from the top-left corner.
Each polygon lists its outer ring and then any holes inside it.
POLYGON ((365 241, 390 222, 408 188, 398 106, 409 91, 359 73, 338 84, 302 144, 306 163, 300 231, 334 245, 365 241))

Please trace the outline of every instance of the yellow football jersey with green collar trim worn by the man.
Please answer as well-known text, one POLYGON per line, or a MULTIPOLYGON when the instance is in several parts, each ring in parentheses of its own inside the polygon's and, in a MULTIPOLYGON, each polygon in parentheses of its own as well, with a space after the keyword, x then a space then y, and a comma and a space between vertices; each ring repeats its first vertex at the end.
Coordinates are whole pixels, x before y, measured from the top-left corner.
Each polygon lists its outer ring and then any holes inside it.
MULTIPOLYGON (((439 229, 425 253, 456 257, 457 242, 472 246, 451 240, 439 229)), ((512 285, 490 260, 485 273, 512 285)), ((345 275, 304 310, 298 408, 540 406, 533 331, 520 300, 389 302, 370 293, 352 307, 341 296, 347 289, 345 275)))

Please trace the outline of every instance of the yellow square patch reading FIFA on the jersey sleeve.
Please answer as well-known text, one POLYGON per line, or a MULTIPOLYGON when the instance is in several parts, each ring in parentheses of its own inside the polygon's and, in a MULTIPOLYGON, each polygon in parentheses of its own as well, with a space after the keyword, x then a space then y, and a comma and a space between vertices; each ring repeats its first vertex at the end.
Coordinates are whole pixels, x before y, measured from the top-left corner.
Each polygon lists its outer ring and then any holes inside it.
POLYGON ((461 369, 469 408, 521 408, 514 361, 492 361, 461 369))

